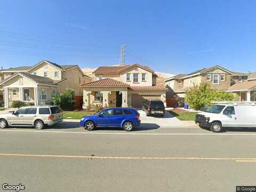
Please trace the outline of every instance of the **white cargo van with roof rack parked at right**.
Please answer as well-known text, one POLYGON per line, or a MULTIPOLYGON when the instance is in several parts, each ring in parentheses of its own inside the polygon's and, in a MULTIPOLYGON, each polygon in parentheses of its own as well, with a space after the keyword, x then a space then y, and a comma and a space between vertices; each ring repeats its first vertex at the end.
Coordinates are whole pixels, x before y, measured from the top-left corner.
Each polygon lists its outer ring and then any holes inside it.
POLYGON ((256 127, 256 102, 220 102, 196 114, 195 123, 221 132, 222 127, 256 127))

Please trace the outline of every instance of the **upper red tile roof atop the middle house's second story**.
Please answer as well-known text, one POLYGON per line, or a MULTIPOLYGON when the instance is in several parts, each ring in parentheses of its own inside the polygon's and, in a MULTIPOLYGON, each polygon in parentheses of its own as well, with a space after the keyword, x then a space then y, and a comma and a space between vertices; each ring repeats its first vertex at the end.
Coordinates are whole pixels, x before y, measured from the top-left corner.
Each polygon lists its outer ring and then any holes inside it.
POLYGON ((142 69, 150 71, 151 73, 154 73, 154 71, 151 70, 149 67, 141 66, 141 65, 135 63, 133 65, 126 65, 126 66, 110 66, 110 67, 105 66, 105 67, 99 67, 95 71, 93 71, 93 74, 119 74, 121 71, 124 71, 126 69, 130 69, 130 68, 132 68, 134 66, 140 67, 142 69))

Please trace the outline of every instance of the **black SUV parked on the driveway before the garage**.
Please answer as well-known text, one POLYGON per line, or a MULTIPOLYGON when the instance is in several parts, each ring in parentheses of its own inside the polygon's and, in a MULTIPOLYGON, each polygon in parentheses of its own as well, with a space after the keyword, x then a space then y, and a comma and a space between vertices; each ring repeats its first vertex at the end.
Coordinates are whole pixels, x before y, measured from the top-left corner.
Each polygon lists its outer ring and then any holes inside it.
POLYGON ((165 114, 164 103, 161 100, 146 100, 142 105, 142 110, 146 112, 147 116, 165 114))

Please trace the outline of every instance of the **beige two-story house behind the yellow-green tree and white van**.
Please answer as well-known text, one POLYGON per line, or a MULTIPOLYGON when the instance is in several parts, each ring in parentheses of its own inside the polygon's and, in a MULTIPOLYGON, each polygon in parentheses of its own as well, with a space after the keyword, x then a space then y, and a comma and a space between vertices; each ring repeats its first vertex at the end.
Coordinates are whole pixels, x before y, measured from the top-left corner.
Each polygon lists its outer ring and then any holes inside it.
POLYGON ((249 74, 237 73, 227 70, 221 66, 213 66, 194 71, 190 74, 179 74, 165 79, 169 87, 166 92, 168 106, 177 106, 177 103, 184 102, 185 92, 189 87, 199 85, 203 82, 209 83, 211 89, 228 91, 231 85, 247 81, 249 74))

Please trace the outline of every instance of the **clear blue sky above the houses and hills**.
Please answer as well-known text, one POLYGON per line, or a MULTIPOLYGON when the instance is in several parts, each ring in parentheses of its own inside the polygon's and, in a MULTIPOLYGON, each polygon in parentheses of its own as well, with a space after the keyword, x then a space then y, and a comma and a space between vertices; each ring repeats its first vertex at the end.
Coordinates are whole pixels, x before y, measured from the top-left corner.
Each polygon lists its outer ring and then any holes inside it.
POLYGON ((0 67, 50 60, 165 73, 255 71, 256 1, 0 1, 0 67))

